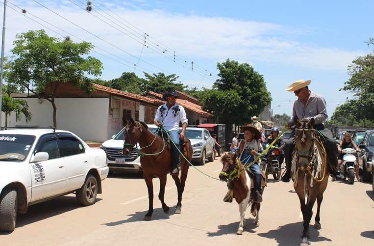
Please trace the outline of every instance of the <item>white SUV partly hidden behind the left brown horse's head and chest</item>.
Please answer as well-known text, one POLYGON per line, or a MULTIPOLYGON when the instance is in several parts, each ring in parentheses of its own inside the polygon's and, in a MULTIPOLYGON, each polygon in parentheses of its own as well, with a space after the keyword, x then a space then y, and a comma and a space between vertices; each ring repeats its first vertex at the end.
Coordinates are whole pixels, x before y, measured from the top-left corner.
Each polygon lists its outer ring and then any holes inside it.
MULTIPOLYGON (((151 132, 157 130, 157 126, 154 124, 147 124, 151 132)), ((112 139, 103 142, 100 146, 106 153, 106 163, 108 164, 110 172, 142 172, 142 166, 140 164, 140 156, 138 152, 133 150, 129 156, 124 156, 124 131, 123 128, 118 134, 113 135, 112 139)), ((135 146, 139 148, 139 145, 135 146)))

